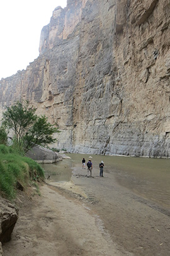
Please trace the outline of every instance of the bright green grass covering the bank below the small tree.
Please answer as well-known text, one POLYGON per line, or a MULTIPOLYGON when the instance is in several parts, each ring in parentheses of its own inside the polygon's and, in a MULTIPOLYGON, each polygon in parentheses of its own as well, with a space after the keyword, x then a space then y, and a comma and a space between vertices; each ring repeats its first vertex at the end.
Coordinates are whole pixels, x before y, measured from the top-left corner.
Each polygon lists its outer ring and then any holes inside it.
POLYGON ((31 183, 44 179, 42 167, 32 159, 23 157, 11 147, 0 145, 0 193, 3 197, 13 199, 18 184, 23 189, 31 183))

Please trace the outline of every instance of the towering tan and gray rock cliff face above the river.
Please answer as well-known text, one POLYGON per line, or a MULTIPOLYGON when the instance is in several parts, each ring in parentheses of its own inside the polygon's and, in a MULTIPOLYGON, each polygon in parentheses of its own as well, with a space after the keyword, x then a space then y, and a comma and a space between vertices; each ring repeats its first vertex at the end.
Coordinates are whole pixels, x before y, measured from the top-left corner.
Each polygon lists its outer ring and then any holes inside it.
POLYGON ((28 99, 59 126, 60 149, 169 157, 169 13, 166 0, 67 1, 40 57, 1 80, 1 112, 28 99))

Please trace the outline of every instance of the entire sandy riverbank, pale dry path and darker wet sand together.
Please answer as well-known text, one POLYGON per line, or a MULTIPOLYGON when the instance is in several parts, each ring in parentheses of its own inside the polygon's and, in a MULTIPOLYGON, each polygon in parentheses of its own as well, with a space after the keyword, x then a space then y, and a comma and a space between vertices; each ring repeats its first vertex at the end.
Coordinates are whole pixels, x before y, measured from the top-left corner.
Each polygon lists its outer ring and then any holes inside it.
POLYGON ((169 216, 119 186, 110 173, 40 187, 41 197, 20 197, 20 217, 4 256, 169 255, 169 216), (23 204, 22 202, 23 201, 23 204))

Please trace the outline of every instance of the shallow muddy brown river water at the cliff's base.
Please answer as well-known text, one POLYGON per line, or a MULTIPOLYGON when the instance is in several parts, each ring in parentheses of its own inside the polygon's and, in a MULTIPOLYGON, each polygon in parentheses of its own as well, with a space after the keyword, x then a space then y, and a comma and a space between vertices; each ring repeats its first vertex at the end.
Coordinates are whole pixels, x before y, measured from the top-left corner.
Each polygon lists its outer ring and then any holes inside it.
POLYGON ((82 168, 82 157, 86 162, 91 156, 93 168, 99 169, 99 162, 105 162, 104 175, 113 174, 119 185, 125 186, 139 197, 169 209, 170 206, 170 159, 150 159, 143 157, 122 157, 108 155, 66 154, 56 164, 43 164, 46 175, 59 182, 69 181, 77 164, 82 168))

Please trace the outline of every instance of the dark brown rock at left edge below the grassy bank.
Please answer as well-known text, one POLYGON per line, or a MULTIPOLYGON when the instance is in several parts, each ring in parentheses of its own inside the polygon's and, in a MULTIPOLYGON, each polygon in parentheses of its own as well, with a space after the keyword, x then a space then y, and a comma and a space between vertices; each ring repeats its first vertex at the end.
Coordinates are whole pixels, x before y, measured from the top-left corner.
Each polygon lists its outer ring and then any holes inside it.
MULTIPOLYGON (((0 197, 0 242, 6 243, 11 239, 14 225, 18 219, 18 208, 11 202, 0 197)), ((1 255, 0 243, 0 255, 1 255)))

